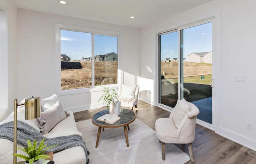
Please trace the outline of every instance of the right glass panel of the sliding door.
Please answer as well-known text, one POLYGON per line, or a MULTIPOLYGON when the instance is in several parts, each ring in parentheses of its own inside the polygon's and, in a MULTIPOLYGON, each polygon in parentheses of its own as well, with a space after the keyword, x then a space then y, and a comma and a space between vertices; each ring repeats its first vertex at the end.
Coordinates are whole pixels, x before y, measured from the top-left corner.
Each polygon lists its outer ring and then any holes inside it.
POLYGON ((180 54, 186 58, 181 66, 184 98, 198 107, 198 119, 212 124, 212 22, 182 29, 180 33, 180 54))

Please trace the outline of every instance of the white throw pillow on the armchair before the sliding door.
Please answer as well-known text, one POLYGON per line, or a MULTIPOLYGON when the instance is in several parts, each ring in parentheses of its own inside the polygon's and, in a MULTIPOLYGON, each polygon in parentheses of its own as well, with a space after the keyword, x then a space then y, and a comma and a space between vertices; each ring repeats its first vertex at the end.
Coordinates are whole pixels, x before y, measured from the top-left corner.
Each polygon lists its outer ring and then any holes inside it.
POLYGON ((174 120, 174 124, 176 128, 179 127, 180 122, 186 116, 188 112, 190 112, 190 107, 185 99, 178 100, 176 106, 172 110, 172 118, 174 120))

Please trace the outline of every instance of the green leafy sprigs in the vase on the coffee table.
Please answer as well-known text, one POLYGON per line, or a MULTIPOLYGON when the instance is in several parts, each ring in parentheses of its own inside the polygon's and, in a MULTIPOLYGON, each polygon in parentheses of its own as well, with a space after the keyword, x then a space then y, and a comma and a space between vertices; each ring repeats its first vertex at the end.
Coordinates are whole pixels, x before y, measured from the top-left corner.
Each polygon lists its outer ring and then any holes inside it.
POLYGON ((102 86, 102 88, 104 88, 103 94, 98 102, 100 102, 100 100, 103 100, 103 104, 106 104, 107 107, 110 108, 110 105, 114 104, 114 100, 118 100, 118 95, 115 89, 112 89, 112 92, 110 92, 108 87, 102 86))

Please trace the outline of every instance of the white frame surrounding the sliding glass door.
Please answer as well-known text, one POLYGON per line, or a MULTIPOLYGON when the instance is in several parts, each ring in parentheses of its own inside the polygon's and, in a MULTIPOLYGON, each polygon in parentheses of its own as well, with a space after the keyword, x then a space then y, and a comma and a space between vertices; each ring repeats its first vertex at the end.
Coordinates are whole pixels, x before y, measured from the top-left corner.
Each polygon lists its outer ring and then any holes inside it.
MULTIPOLYGON (((171 26, 167 26, 165 28, 161 28, 156 30, 156 52, 158 52, 158 34, 170 31, 170 30, 175 30, 175 29, 182 29, 188 26, 191 26, 193 24, 198 24, 200 22, 204 22, 207 20, 212 20, 213 23, 213 28, 212 28, 212 33, 213 33, 213 43, 212 43, 212 51, 214 53, 214 58, 212 58, 212 64, 214 65, 214 69, 212 70, 212 74, 214 74, 214 90, 213 93, 215 97, 212 99, 212 126, 209 126, 209 124, 206 124, 204 122, 197 121, 197 124, 200 124, 206 128, 209 128, 211 130, 215 130, 215 132, 220 133, 220 10, 217 10, 212 13, 205 14, 203 16, 198 16, 195 18, 192 18, 190 20, 186 20, 184 22, 180 22, 178 24, 173 24, 171 26)), ((179 33, 180 34, 180 33, 179 33)), ((180 36, 179 36, 180 38, 180 36)), ((180 40, 179 40, 180 44, 180 40)), ((180 54, 180 52, 179 52, 180 54)), ((158 54, 156 54, 156 60, 158 61, 158 54)), ((159 64, 157 62, 157 68, 159 67, 159 64)), ((180 70, 180 68, 179 68, 180 70)), ((180 72, 179 72, 180 76, 180 72)), ((154 92, 159 93, 159 82, 158 82, 158 77, 159 77, 159 72, 157 71, 155 74, 155 79, 156 79, 156 84, 154 86, 154 92)), ((179 77, 180 78, 180 77, 179 77)), ((180 87, 179 87, 180 88, 180 87)), ((180 91, 179 91, 180 92, 180 91)), ((156 106, 165 109, 167 111, 172 111, 170 108, 167 108, 165 106, 161 106, 159 104, 159 94, 156 94, 154 96, 154 102, 156 106)))

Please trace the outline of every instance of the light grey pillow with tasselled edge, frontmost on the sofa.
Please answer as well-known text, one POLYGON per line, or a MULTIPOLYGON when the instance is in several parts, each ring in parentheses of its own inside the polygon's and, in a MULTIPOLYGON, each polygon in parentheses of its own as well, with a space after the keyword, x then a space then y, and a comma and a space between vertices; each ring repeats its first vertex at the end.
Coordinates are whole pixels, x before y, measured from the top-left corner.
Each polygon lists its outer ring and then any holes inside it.
POLYGON ((56 124, 66 118, 66 113, 57 101, 52 107, 41 113, 41 117, 38 118, 38 127, 42 134, 48 133, 56 124))

